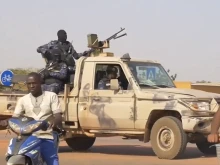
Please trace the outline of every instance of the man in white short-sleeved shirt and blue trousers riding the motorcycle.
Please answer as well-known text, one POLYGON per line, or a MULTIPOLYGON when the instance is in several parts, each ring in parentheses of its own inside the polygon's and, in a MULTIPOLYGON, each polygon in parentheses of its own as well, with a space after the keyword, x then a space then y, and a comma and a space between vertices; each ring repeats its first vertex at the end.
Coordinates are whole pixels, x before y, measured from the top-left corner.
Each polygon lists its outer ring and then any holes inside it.
POLYGON ((35 120, 46 120, 51 124, 47 131, 38 131, 35 136, 42 139, 41 153, 47 165, 59 165, 57 148, 52 134, 53 127, 62 129, 62 111, 57 94, 42 91, 40 74, 32 72, 27 78, 29 94, 21 97, 15 107, 13 117, 25 115, 35 120))

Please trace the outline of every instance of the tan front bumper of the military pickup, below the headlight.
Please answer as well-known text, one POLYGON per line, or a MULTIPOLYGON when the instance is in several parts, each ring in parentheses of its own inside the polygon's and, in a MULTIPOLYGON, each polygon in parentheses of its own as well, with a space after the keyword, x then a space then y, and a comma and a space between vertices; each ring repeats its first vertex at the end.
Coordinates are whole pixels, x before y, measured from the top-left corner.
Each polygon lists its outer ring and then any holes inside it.
POLYGON ((182 125, 185 132, 209 134, 213 117, 182 116, 182 125))

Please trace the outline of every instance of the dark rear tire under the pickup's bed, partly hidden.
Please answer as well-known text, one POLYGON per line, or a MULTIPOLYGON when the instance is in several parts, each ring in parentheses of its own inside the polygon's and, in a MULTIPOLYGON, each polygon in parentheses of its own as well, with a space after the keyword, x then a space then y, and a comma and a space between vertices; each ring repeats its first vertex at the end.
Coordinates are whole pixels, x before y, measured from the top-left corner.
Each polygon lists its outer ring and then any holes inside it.
POLYGON ((66 139, 66 143, 74 151, 85 151, 92 147, 95 139, 92 137, 73 137, 66 139))

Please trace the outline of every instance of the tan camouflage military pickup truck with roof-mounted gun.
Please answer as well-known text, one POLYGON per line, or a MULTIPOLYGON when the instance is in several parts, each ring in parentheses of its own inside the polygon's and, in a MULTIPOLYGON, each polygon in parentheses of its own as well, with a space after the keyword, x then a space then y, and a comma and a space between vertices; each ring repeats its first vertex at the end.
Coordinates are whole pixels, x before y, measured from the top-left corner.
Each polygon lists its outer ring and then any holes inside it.
MULTIPOLYGON (((96 137, 121 136, 150 141, 161 159, 182 156, 188 142, 204 154, 214 154, 206 136, 219 108, 219 94, 177 89, 160 63, 103 52, 109 40, 100 46, 95 34, 88 35, 88 46, 98 53, 77 60, 74 79, 59 94, 65 141, 73 150, 89 149, 96 137), (99 90, 107 66, 118 69, 118 78, 107 84, 109 89, 99 90)), ((0 93, 0 115, 10 116, 24 94, 0 93)))

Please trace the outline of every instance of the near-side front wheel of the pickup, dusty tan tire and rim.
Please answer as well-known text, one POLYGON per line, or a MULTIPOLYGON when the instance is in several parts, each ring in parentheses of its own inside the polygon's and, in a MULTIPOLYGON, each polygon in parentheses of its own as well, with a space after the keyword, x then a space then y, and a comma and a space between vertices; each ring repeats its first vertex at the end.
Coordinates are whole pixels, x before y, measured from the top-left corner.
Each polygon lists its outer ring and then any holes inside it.
POLYGON ((154 123, 150 141, 158 158, 170 160, 179 158, 188 143, 181 121, 172 116, 162 117, 154 123))

